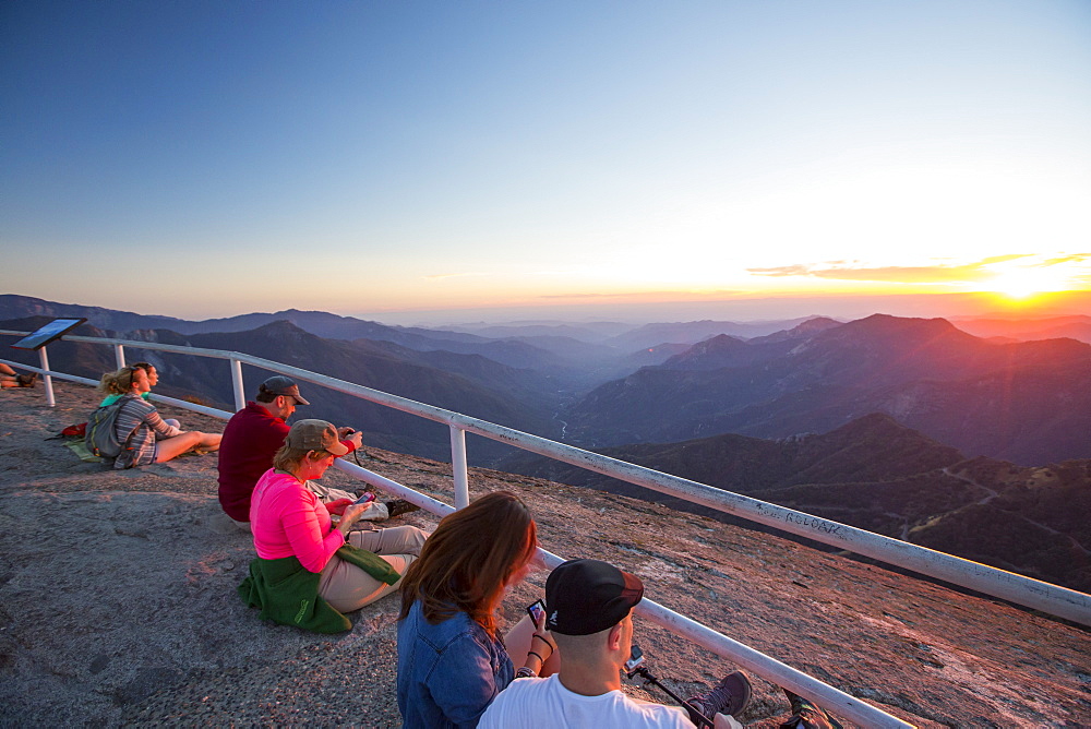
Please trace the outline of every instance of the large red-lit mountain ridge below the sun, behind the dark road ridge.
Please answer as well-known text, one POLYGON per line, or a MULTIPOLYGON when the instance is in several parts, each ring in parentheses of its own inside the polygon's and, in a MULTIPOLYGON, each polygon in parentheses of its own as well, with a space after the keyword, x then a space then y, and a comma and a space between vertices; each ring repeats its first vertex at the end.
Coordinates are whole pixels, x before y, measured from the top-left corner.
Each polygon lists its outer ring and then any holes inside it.
POLYGON ((943 319, 827 321, 715 337, 600 385, 566 419, 577 442, 610 445, 820 433, 875 411, 971 455, 1091 457, 1091 345, 994 343, 943 319))

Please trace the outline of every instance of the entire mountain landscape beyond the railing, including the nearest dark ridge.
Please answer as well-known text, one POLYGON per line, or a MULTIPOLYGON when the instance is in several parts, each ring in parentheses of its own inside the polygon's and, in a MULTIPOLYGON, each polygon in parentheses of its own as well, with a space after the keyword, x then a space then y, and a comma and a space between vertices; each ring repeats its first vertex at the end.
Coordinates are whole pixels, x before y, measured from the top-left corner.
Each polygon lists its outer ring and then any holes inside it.
MULTIPOLYGON (((252 354, 1091 589, 1091 345, 1072 338, 983 339, 942 319, 876 314, 787 322, 748 338, 730 322, 694 322, 528 324, 490 332, 496 339, 480 334, 485 327, 392 327, 324 312, 184 322, 0 296, 0 316, 12 313, 21 315, 0 328, 88 316, 76 333, 252 354), (704 338, 685 340, 693 337, 704 338), (655 344, 625 348, 637 342, 655 344), (604 382, 611 372, 622 374, 604 382)), ((37 362, 34 352, 4 355, 37 362)), ((163 394, 232 407, 221 360, 139 348, 127 356, 158 367, 163 394)), ((89 344, 51 344, 49 358, 94 379, 115 367, 110 348, 89 344)), ((268 375, 249 366, 243 374, 251 396, 268 375)), ((442 425, 302 390, 312 405, 297 417, 449 459, 442 425)), ((487 439, 471 438, 469 457, 681 506, 487 439)))

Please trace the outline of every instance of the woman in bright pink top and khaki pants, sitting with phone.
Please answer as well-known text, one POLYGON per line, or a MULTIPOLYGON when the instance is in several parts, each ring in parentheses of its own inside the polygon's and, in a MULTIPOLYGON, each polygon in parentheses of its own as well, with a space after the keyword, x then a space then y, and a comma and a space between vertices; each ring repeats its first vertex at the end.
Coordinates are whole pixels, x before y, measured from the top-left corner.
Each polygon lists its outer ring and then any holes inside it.
POLYGON ((288 431, 273 468, 254 487, 250 523, 257 559, 239 588, 263 618, 326 633, 350 628, 339 613, 396 590, 427 536, 413 526, 350 531, 363 504, 346 506, 334 526, 303 485, 348 453, 337 438, 325 420, 300 420, 288 431))

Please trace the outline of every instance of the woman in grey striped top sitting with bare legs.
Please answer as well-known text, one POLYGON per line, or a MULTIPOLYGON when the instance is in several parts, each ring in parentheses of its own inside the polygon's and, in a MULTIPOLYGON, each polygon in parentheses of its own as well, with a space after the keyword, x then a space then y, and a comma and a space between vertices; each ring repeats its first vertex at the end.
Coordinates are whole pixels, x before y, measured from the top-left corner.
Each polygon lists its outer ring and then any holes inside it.
POLYGON ((219 447, 218 433, 179 430, 168 426, 158 410, 141 397, 148 391, 147 372, 139 367, 122 367, 103 375, 98 389, 107 394, 120 394, 121 409, 115 421, 115 435, 122 444, 115 468, 132 468, 165 463, 187 451, 219 447))

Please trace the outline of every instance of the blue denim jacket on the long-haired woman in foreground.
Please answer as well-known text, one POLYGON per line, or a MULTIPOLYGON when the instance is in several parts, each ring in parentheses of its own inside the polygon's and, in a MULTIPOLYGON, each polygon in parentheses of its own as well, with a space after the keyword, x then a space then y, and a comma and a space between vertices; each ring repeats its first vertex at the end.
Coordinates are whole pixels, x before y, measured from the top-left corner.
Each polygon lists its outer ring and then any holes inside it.
POLYGON ((432 625, 420 601, 398 622, 398 708, 403 729, 477 727, 515 678, 500 641, 465 612, 432 625))

